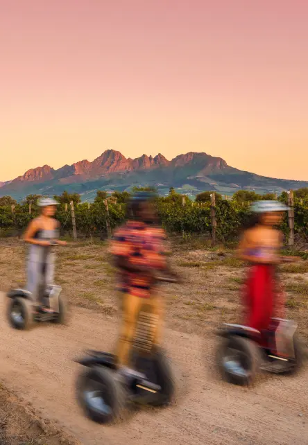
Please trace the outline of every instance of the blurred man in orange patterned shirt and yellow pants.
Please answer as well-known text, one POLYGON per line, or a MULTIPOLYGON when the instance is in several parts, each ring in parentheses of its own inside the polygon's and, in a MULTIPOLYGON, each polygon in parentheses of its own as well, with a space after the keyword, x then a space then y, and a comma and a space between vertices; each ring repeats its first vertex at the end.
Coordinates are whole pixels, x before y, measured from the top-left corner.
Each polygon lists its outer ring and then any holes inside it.
POLYGON ((160 341, 163 315, 162 298, 155 288, 155 274, 170 272, 164 255, 165 233, 157 224, 157 213, 149 192, 135 193, 128 204, 128 222, 115 234, 111 252, 119 272, 118 289, 122 297, 123 318, 117 344, 117 361, 124 374, 136 374, 130 369, 130 352, 137 328, 137 317, 144 299, 157 315, 154 344, 160 341))

